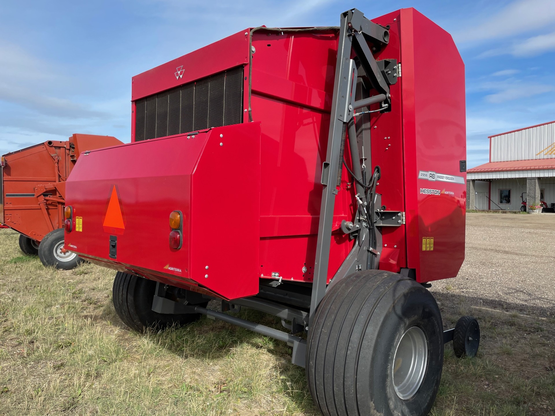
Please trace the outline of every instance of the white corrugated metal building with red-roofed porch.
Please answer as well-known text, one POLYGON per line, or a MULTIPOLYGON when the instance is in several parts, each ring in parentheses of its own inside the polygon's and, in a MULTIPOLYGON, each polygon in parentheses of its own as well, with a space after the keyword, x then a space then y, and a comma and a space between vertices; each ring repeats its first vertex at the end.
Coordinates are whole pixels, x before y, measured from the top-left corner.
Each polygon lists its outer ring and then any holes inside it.
POLYGON ((490 161, 467 171, 467 208, 518 211, 522 200, 555 207, 555 121, 489 139, 490 161))

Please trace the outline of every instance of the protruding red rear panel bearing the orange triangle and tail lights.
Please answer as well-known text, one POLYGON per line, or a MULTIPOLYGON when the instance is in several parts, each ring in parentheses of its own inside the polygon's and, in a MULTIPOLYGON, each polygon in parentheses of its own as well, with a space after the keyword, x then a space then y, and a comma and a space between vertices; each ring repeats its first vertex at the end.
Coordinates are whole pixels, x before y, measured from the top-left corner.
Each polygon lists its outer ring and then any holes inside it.
POLYGON ((259 123, 91 151, 77 167, 67 205, 83 231, 66 232, 69 250, 226 298, 258 293, 259 123), (174 210, 183 213, 179 250, 169 246, 174 210))

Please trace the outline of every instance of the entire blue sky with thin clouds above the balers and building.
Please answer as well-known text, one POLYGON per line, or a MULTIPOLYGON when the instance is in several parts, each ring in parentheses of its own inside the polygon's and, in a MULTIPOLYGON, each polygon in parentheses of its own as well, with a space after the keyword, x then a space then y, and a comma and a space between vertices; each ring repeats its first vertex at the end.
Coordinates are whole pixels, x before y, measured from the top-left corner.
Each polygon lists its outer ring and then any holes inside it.
POLYGON ((415 7, 466 64, 468 166, 487 136, 555 119, 553 0, 0 2, 0 154, 73 133, 130 137, 131 77, 249 26, 334 26, 415 7))

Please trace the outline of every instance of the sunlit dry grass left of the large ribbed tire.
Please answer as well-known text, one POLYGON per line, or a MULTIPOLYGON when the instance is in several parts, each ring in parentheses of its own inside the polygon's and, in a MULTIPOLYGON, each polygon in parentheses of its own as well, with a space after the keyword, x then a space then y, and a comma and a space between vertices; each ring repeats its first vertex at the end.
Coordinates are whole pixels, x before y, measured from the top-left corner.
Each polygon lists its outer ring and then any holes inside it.
POLYGON ((315 414, 285 344, 207 318, 130 332, 113 276, 44 268, 0 232, 0 415, 315 414))

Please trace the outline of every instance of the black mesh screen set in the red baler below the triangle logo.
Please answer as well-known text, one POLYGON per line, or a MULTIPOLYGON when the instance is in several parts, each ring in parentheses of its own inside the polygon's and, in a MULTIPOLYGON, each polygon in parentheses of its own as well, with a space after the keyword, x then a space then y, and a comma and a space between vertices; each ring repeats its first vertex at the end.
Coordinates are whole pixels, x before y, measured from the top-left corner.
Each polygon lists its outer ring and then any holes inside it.
POLYGON ((243 67, 238 67, 137 100, 135 141, 241 121, 243 67))

